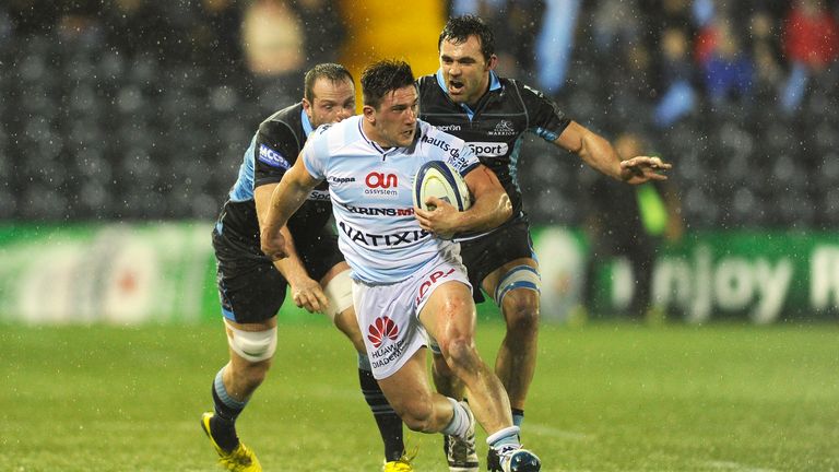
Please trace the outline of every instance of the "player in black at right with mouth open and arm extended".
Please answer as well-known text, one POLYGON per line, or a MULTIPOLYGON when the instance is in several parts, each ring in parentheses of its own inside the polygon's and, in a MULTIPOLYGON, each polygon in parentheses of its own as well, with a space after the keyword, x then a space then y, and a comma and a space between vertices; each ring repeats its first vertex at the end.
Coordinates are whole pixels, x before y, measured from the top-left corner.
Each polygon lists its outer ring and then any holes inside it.
MULTIPOLYGON (((512 416, 520 426, 536 365, 541 290, 530 224, 516 179, 524 132, 531 131, 628 184, 665 179, 661 173, 670 164, 648 156, 622 162, 608 141, 568 119, 541 92, 498 76, 493 32, 480 17, 450 19, 437 47, 440 69, 417 81, 420 118, 466 141, 481 163, 498 176, 512 203, 512 214, 500 227, 462 234, 458 240, 476 288, 475 300, 484 300, 483 288, 504 314, 507 335, 498 350, 495 371, 510 396, 512 416)), ((437 351, 434 345, 432 350, 437 351)), ((439 355, 435 356, 434 379, 440 393, 463 398, 462 384, 439 355)), ((444 448, 452 472, 477 471, 473 445, 446 437, 444 448)), ((491 470, 497 469, 493 453, 491 449, 491 470)))

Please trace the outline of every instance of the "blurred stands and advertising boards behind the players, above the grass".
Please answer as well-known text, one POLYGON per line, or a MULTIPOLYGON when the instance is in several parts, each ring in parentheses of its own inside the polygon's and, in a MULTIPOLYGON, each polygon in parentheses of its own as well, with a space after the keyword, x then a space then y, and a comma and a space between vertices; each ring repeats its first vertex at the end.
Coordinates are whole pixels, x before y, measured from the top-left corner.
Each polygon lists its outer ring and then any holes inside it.
MULTIPOLYGON (((446 16, 466 12, 494 26, 503 75, 674 163, 652 204, 667 229, 638 243, 655 246, 635 268, 652 274, 646 303, 692 321, 836 318, 835 2, 427 1, 394 15, 387 1, 9 0, 0 319, 214 318, 208 233, 260 120, 299 99, 316 62, 434 72, 446 16)), ((545 317, 564 320, 599 256, 590 216, 637 219, 617 204, 636 196, 593 190, 593 172, 536 139, 521 162, 545 317)), ((634 306, 626 253, 606 256, 589 315, 634 306)))

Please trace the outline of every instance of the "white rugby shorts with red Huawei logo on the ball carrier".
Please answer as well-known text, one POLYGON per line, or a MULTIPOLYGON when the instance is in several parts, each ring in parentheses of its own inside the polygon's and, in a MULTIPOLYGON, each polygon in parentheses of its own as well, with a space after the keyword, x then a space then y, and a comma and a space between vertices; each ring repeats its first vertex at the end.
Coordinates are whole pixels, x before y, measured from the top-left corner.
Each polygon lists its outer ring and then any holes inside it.
POLYGON ((452 281, 472 290, 459 258, 452 261, 438 256, 401 282, 353 282, 353 305, 376 379, 393 375, 426 345, 428 334, 420 322, 420 311, 438 286, 452 281))

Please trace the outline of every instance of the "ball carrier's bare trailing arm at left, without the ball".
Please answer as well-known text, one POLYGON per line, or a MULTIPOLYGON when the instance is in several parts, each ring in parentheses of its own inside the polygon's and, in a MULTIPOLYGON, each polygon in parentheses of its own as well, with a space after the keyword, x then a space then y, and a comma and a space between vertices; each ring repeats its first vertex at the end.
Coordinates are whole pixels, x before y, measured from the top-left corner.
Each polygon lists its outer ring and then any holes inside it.
POLYGON ((285 237, 280 229, 306 201, 306 197, 316 185, 318 181, 306 170, 303 158, 298 158, 294 166, 285 173, 280 185, 271 194, 271 202, 264 215, 260 234, 262 252, 271 260, 288 257, 289 251, 286 247, 285 237))

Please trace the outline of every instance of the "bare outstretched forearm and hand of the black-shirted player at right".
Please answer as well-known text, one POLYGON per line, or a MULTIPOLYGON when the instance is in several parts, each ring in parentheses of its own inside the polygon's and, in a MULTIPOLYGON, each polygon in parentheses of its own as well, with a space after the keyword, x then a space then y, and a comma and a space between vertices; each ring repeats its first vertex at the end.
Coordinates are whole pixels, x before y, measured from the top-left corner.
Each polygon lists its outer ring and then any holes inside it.
POLYGON ((661 173, 672 167, 659 157, 635 156, 622 161, 608 141, 576 121, 568 125, 554 144, 576 153, 601 173, 633 185, 666 180, 661 173))

